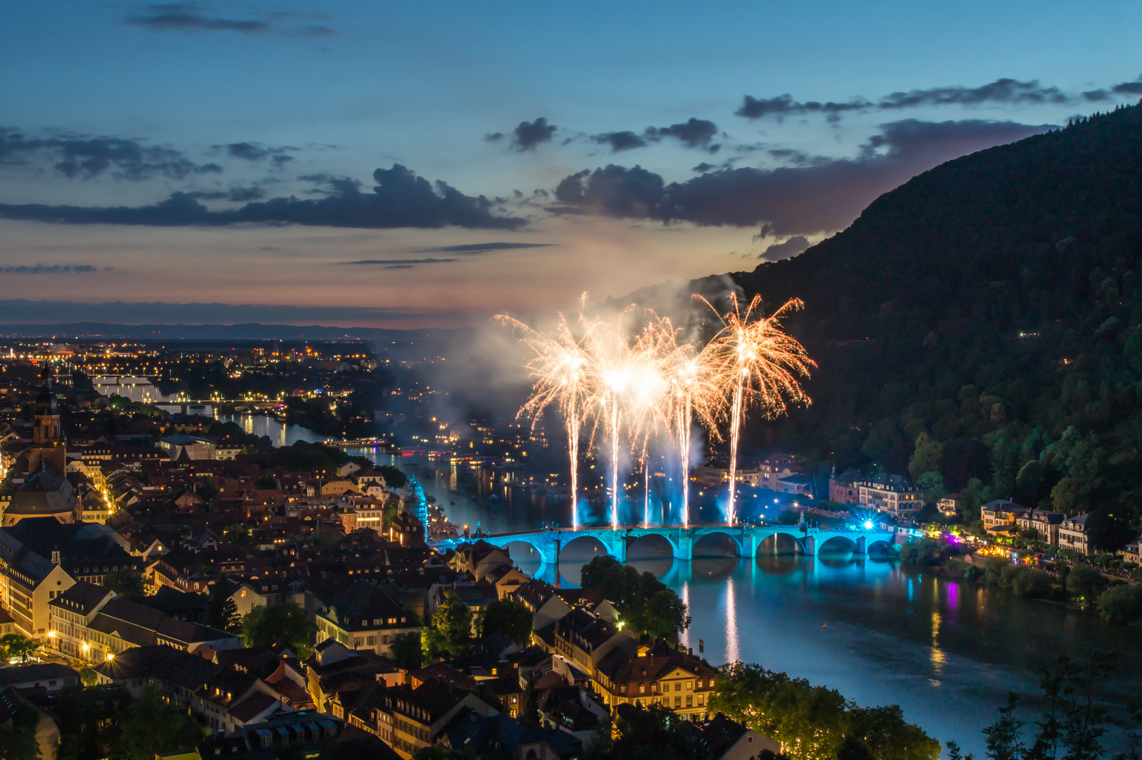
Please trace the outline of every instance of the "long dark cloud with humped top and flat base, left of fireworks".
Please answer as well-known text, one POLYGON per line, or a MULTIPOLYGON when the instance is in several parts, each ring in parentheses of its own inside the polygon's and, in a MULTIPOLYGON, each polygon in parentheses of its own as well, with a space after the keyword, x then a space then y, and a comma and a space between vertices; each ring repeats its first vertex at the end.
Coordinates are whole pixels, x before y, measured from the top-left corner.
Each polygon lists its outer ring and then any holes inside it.
POLYGON ((75 207, 0 204, 0 218, 56 224, 108 224, 171 226, 226 226, 235 224, 306 225, 323 227, 468 227, 517 229, 526 219, 505 216, 483 195, 465 195, 444 181, 429 183, 394 163, 377 169, 372 193, 346 186, 320 200, 275 197, 211 211, 187 193, 142 207, 75 207))

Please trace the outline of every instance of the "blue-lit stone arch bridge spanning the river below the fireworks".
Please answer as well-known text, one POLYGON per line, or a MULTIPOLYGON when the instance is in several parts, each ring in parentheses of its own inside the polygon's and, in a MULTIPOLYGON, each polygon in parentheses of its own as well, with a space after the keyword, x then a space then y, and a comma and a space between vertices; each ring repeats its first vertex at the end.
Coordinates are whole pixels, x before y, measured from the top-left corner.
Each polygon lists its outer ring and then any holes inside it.
MULTIPOLYGON (((727 536, 734 544, 739 557, 757 557, 762 544, 778 535, 793 539, 798 553, 817 557, 826 544, 837 549, 849 549, 853 553, 864 555, 874 545, 883 544, 885 549, 892 545, 893 533, 890 531, 828 531, 802 525, 691 525, 689 527, 593 527, 578 531, 529 531, 523 533, 499 533, 481 535, 471 541, 486 541, 496 547, 507 547, 509 543, 530 544, 545 563, 558 564, 560 552, 579 539, 595 539, 606 553, 621 563, 627 560, 630 545, 646 536, 660 536, 670 544, 675 559, 689 561, 693 558, 694 545, 708 535, 727 536)), ((465 543, 466 539, 448 539, 437 541, 434 545, 453 547, 465 543)), ((775 548, 775 547, 774 547, 775 548)))

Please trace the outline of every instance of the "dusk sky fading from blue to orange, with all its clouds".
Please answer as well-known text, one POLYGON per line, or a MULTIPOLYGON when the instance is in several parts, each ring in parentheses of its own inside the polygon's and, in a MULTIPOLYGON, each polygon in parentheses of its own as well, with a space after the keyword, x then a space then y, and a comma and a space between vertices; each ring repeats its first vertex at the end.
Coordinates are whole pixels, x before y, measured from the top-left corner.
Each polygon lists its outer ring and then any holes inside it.
POLYGON ((2 323, 544 315, 1142 97, 1137 2, 2 7, 2 323))

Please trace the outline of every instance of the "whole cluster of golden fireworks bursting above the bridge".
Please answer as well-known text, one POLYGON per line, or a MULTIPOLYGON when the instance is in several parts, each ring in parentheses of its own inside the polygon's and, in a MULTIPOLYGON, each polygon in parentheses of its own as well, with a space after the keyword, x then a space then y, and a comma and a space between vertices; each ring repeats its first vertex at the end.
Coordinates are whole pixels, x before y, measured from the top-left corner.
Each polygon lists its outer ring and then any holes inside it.
MULTIPOLYGON (((742 308, 730 294, 732 308, 722 314, 722 330, 705 347, 681 342, 681 330, 669 317, 645 312, 641 328, 633 330, 634 309, 611 320, 584 314, 586 293, 572 323, 560 314, 554 330, 538 332, 508 316, 501 323, 522 333, 520 341, 533 356, 526 363, 532 393, 520 417, 537 425, 548 407, 562 414, 571 463, 572 527, 578 529, 579 444, 585 430, 588 451, 602 451, 610 460, 611 493, 608 517, 619 527, 622 480, 619 474, 624 447, 638 456, 643 470, 643 525, 650 524, 650 463, 648 451, 660 435, 677 447, 681 468, 682 525, 690 524, 690 440, 697 423, 710 438, 722 439, 729 423, 730 498, 726 519, 735 519, 738 440, 749 409, 773 418, 788 403, 809 403, 799 385, 815 366, 799 342, 781 331, 781 320, 801 308, 790 300, 769 317, 762 315, 761 298, 742 308)), ((695 296, 695 298, 699 298, 695 296)))

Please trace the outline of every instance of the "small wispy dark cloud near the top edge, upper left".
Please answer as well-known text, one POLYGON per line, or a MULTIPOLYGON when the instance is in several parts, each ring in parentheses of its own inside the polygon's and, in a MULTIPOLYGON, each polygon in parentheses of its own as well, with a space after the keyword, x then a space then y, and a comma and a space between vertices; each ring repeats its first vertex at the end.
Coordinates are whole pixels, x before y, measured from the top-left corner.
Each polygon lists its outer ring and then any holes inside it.
POLYGON ((329 37, 337 32, 321 24, 307 23, 328 18, 323 14, 268 13, 258 18, 223 18, 208 6, 198 2, 164 2, 142 6, 123 23, 143 26, 152 32, 238 32, 283 37, 329 37))

